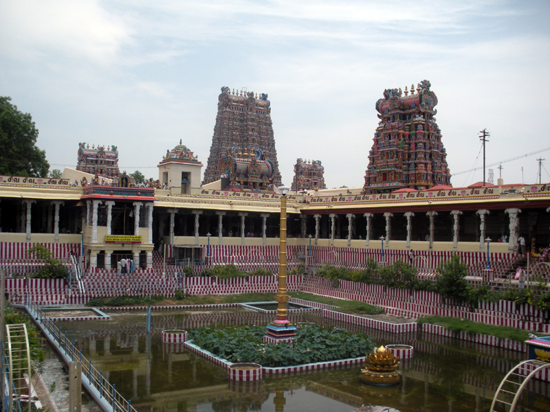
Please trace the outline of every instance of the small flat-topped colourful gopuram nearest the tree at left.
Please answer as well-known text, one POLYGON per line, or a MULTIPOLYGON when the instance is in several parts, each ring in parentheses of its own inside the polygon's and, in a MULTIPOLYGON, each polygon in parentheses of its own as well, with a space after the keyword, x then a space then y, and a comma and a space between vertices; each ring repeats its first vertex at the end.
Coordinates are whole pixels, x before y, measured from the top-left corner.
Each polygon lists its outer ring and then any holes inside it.
POLYGON ((105 146, 92 145, 90 148, 89 144, 79 143, 76 170, 109 179, 119 178, 117 146, 111 146, 111 150, 109 148, 105 150, 105 146))

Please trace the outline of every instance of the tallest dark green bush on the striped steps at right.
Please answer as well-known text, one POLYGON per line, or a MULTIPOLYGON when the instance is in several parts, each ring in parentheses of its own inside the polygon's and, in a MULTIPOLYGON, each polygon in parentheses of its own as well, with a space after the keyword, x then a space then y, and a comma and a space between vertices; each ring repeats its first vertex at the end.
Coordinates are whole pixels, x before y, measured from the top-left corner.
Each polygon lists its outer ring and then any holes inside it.
POLYGON ((456 301, 467 301, 466 275, 468 266, 462 263, 459 255, 452 255, 450 260, 437 266, 437 290, 441 296, 456 301))

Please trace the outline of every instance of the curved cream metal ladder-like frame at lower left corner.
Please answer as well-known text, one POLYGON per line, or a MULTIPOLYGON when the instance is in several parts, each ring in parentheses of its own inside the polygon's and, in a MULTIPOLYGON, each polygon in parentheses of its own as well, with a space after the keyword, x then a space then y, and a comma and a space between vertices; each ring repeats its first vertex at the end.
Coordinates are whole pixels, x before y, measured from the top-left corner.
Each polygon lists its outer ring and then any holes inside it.
MULTIPOLYGON (((8 385, 14 401, 27 402, 32 395, 30 388, 30 351, 27 326, 24 323, 5 325, 6 342, 8 343, 8 385), (26 376, 25 376, 26 375, 26 376), (26 378, 26 379, 25 379, 26 378), (28 379, 28 380, 27 380, 28 379)), ((12 411, 12 402, 8 405, 12 411)))

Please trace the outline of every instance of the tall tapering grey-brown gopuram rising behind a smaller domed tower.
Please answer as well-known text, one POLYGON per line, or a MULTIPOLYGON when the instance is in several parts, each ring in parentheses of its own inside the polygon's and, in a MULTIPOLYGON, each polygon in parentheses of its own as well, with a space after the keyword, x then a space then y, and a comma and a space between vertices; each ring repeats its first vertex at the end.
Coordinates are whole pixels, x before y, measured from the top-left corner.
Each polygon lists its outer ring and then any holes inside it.
POLYGON ((229 152, 254 153, 261 150, 273 166, 273 185, 281 185, 270 101, 267 94, 254 96, 252 91, 230 91, 222 87, 218 97, 218 113, 210 146, 210 156, 204 171, 203 184, 217 181, 221 163, 229 152))

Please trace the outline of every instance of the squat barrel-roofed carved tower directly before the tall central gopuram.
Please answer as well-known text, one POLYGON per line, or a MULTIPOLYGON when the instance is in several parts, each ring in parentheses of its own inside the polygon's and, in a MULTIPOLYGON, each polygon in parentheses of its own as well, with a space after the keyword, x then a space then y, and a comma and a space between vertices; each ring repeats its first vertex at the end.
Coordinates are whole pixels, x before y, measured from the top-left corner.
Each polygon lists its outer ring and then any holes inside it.
POLYGON ((234 147, 219 163, 221 190, 245 192, 272 191, 274 165, 261 149, 245 150, 234 147))

